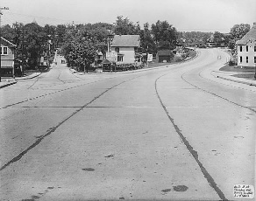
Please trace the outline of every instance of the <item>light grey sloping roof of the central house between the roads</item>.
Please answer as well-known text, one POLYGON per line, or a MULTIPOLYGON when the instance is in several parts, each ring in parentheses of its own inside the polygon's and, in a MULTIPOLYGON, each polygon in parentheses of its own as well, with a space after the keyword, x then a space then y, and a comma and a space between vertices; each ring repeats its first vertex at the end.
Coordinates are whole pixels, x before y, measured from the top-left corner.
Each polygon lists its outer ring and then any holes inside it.
POLYGON ((115 35, 111 46, 139 47, 139 35, 115 35))

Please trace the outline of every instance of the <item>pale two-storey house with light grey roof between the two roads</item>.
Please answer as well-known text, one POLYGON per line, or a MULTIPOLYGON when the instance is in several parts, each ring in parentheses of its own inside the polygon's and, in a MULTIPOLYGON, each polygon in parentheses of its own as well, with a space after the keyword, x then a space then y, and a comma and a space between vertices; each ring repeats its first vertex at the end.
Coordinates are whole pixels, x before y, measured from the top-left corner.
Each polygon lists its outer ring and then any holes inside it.
POLYGON ((110 45, 112 52, 117 52, 117 64, 140 63, 138 58, 139 35, 115 35, 110 45))

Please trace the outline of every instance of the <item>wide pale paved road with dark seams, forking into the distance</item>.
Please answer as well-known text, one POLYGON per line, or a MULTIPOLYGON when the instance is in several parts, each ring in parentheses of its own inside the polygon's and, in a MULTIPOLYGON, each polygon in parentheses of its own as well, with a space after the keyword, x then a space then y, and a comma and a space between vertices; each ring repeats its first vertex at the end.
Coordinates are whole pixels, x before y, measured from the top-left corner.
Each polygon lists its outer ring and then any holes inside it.
POLYGON ((255 183, 256 91, 211 76, 227 57, 135 73, 58 64, 1 89, 1 200, 237 199, 235 184, 255 183))

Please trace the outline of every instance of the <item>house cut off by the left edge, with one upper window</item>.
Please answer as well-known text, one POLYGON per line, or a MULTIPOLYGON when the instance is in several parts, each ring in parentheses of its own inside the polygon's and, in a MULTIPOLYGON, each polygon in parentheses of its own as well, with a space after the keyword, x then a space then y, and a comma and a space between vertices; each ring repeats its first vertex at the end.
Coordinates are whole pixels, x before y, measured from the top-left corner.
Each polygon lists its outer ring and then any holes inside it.
POLYGON ((1 37, 1 76, 14 76, 14 55, 16 45, 1 37))

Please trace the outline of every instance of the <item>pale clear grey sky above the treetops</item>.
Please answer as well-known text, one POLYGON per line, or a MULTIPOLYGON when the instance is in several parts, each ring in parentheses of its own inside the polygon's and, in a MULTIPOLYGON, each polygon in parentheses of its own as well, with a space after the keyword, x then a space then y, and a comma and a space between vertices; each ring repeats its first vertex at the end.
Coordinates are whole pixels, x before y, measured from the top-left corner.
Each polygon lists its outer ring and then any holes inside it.
POLYGON ((167 20, 178 31, 229 32, 256 22, 256 0, 0 0, 2 24, 113 24, 117 16, 134 24, 167 20))

